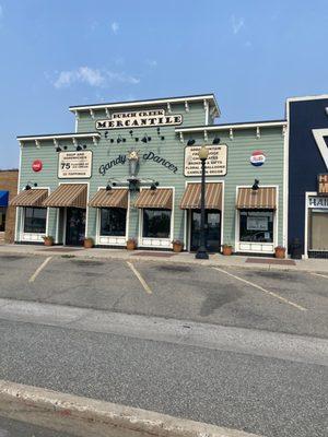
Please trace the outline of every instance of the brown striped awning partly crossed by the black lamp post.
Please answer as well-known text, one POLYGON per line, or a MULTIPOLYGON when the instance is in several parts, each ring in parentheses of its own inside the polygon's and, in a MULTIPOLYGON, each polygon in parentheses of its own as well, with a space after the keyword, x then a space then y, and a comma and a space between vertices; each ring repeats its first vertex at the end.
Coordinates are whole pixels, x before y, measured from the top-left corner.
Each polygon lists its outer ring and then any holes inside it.
MULTIPOLYGON (((180 203, 181 210, 200 209, 201 184, 188 184, 180 203)), ((222 184, 206 184, 206 209, 222 210, 222 184)))

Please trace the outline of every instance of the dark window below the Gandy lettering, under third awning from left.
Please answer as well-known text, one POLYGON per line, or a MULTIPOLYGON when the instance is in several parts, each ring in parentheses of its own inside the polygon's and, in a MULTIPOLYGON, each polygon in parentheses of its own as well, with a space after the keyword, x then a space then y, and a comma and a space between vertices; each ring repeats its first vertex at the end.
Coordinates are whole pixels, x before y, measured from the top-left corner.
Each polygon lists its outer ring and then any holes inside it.
POLYGON ((101 209, 101 235, 124 237, 126 235, 127 210, 124 208, 101 209))

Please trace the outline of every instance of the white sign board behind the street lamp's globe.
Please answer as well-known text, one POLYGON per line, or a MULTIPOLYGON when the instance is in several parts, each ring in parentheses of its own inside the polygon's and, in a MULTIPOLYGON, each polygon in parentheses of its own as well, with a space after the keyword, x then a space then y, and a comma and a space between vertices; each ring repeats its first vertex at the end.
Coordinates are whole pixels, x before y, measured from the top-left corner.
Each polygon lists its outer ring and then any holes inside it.
MULTIPOLYGON (((200 145, 185 149, 185 176, 201 176, 201 161, 198 156, 200 145)), ((206 161, 207 176, 226 175, 226 144, 208 145, 209 156, 206 161)))

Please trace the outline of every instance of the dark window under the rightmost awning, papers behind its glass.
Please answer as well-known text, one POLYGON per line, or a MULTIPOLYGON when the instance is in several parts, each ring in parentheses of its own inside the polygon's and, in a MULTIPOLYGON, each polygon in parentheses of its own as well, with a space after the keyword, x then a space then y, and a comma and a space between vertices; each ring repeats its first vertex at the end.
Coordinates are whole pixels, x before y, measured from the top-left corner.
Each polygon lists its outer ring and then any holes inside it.
POLYGON ((273 243, 273 210, 239 210, 239 241, 273 243))

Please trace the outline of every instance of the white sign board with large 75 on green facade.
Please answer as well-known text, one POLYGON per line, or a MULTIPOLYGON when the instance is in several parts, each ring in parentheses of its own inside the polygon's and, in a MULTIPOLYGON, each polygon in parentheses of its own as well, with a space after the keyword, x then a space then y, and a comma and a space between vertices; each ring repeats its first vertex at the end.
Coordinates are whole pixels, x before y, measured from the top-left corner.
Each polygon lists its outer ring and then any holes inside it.
POLYGON ((59 179, 90 178, 92 152, 60 152, 58 161, 59 179))

